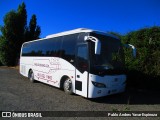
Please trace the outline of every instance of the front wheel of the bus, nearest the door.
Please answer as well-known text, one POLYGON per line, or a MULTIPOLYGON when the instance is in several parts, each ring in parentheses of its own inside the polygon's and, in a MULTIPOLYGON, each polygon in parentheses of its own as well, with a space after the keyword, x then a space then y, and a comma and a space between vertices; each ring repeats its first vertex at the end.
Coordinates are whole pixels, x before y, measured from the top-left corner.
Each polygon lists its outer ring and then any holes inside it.
POLYGON ((73 92, 72 90, 72 81, 71 79, 67 78, 65 81, 64 81, 64 84, 63 84, 63 89, 65 91, 65 93, 71 95, 73 92))

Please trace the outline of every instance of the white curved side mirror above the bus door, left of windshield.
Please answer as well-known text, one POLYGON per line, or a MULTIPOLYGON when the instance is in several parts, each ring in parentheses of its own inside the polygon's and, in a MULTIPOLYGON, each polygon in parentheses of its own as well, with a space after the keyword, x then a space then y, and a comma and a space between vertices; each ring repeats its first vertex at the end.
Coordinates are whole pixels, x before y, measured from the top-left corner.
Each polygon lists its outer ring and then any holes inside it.
POLYGON ((96 55, 99 55, 101 53, 101 42, 100 42, 100 40, 98 40, 96 37, 93 37, 93 36, 85 36, 84 37, 84 41, 89 41, 89 40, 95 43, 94 53, 96 55))

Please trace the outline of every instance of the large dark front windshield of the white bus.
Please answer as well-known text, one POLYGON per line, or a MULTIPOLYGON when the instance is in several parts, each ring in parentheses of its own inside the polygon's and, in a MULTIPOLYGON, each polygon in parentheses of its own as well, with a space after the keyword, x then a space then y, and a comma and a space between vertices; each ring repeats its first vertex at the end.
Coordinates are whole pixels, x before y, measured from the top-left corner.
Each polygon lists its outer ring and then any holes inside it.
POLYGON ((124 68, 124 54, 119 39, 92 33, 101 42, 100 54, 94 53, 95 44, 91 42, 91 66, 98 72, 122 70, 124 68))

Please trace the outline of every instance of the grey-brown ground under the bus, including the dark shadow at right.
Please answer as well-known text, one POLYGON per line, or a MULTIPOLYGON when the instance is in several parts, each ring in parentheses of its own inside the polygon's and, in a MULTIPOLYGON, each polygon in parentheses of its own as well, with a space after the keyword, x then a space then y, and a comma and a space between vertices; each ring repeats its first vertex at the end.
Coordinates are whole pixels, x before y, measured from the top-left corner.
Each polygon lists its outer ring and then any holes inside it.
POLYGON ((160 111, 159 93, 129 89, 86 99, 43 83, 31 83, 18 70, 0 67, 0 111, 160 111))

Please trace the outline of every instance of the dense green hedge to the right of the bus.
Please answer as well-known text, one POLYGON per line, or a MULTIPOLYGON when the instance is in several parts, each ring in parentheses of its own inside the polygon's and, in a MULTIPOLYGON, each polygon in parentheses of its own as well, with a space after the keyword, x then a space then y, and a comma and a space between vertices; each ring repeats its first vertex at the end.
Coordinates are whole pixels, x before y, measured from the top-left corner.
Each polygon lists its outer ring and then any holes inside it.
POLYGON ((125 49, 128 85, 146 89, 160 89, 160 27, 143 28, 121 36, 123 43, 137 48, 137 57, 125 49))

